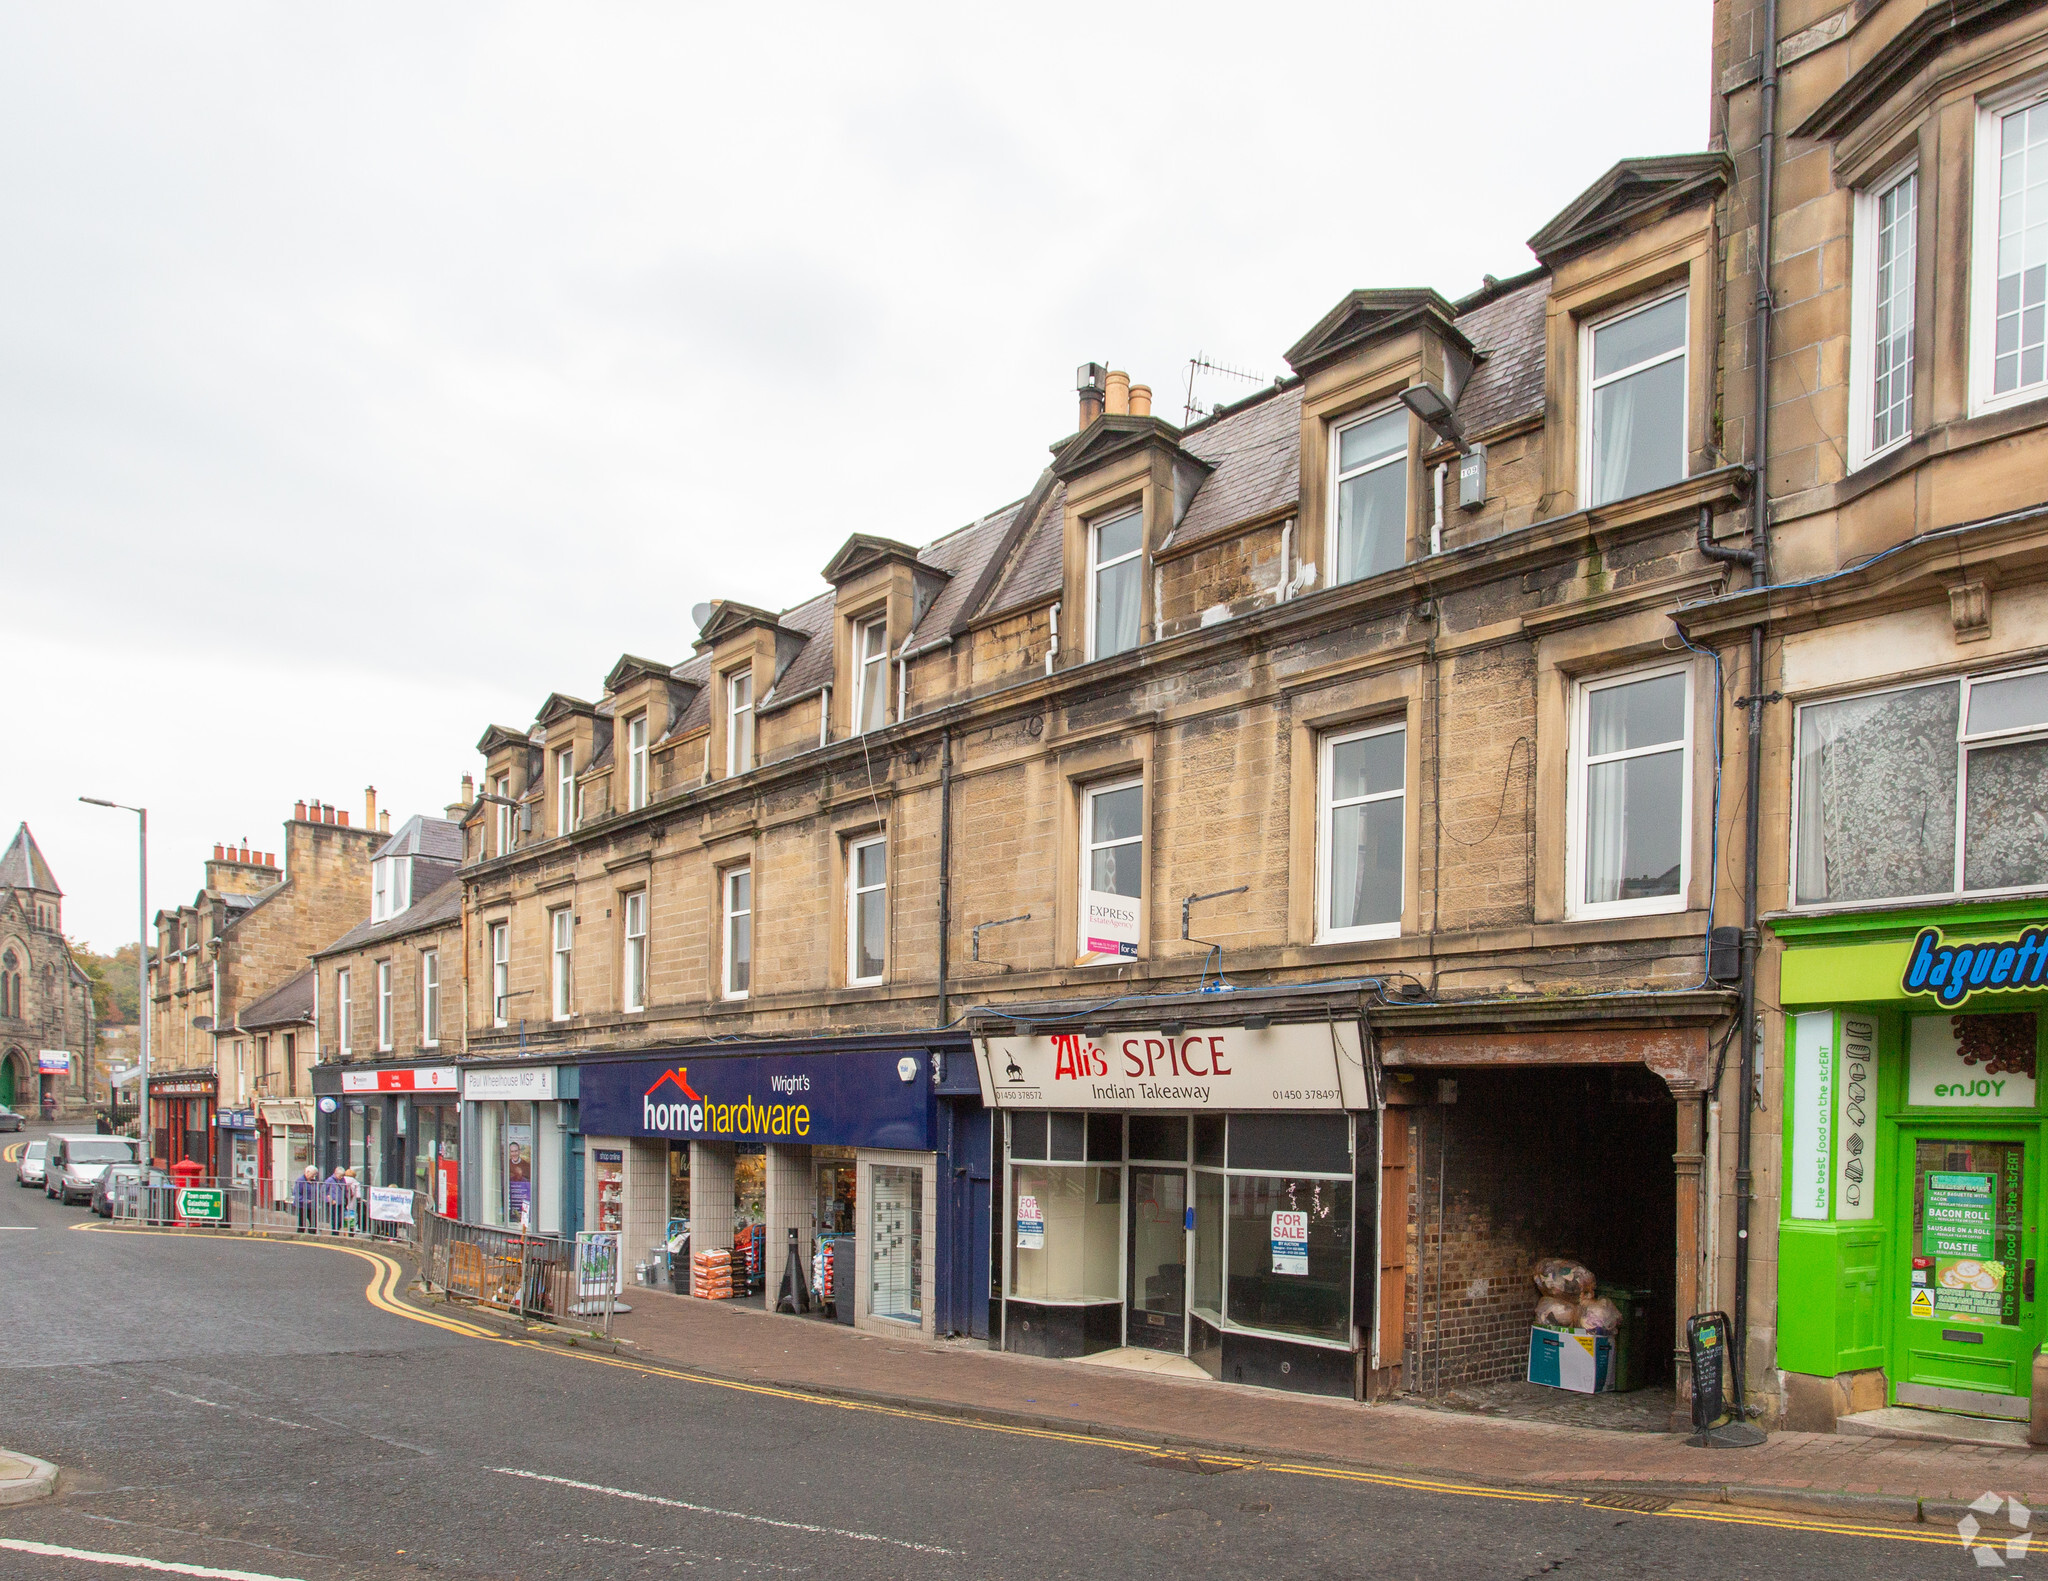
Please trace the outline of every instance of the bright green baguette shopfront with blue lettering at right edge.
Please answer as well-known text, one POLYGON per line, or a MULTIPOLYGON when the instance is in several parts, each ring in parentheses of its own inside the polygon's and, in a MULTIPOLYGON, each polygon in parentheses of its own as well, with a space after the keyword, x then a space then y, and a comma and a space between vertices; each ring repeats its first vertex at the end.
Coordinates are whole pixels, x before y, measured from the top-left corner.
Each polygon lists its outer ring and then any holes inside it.
POLYGON ((2048 1290, 2048 903, 1792 915, 1778 1366, 1790 1425, 2025 1419, 2048 1290))

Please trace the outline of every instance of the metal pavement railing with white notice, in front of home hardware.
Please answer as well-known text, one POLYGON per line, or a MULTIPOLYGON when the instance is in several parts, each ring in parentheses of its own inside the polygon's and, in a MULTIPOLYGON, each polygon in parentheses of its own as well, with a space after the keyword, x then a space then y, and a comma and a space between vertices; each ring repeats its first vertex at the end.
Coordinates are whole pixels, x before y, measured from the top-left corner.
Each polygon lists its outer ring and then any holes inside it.
POLYGON ((420 1278, 457 1300, 547 1323, 602 1325, 610 1335, 618 1298, 618 1237, 573 1241, 420 1214, 420 1278))

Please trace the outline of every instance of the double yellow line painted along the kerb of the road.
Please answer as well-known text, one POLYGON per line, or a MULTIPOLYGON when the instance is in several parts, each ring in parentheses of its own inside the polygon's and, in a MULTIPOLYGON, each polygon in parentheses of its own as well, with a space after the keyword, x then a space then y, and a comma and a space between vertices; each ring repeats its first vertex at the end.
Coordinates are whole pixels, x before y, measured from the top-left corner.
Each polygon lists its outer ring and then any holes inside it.
MULTIPOLYGON (((176 1231, 150 1231, 150 1229, 125 1229, 117 1225, 72 1225, 72 1229, 82 1231, 113 1231, 119 1235, 176 1235, 176 1231)), ((399 1296, 399 1280, 406 1278, 403 1266, 383 1251, 373 1251, 369 1247, 350 1245, 348 1241, 289 1241, 276 1239, 270 1245, 297 1245, 297 1247, 317 1247, 324 1251, 344 1251, 350 1257, 360 1257, 371 1264, 371 1282, 362 1288, 362 1298, 369 1300, 381 1313, 391 1313, 393 1317, 403 1317, 410 1323, 426 1323, 432 1329, 444 1329, 446 1333, 461 1335, 463 1339, 487 1339, 494 1345, 514 1345, 518 1350, 535 1350, 543 1356, 557 1356, 578 1362, 594 1362, 596 1366, 618 1368, 621 1372, 637 1372, 643 1378, 670 1378, 674 1382, 700 1384, 707 1388, 727 1388, 739 1395, 760 1395, 764 1399, 793 1401, 797 1405, 831 1407, 838 1411, 862 1411, 866 1415, 893 1417, 897 1421, 918 1421, 938 1427, 967 1427, 977 1434, 1004 1434, 1008 1438, 1030 1438, 1051 1444, 1079 1444, 1094 1450, 1120 1450, 1126 1454, 1143 1454, 1147 1458, 1180 1458, 1194 1460, 1202 1466, 1212 1466, 1217 1470, 1270 1470, 1284 1477, 1317 1477, 1333 1483, 1358 1483, 1364 1487, 1386 1487, 1403 1493, 1432 1493, 1440 1497, 1456 1499, 1493 1499, 1499 1503, 1548 1503, 1548 1505, 1587 1505, 1599 1509, 1602 1495, 1585 1493, 1546 1493, 1542 1489, 1513 1489, 1513 1487, 1483 1487, 1479 1483, 1450 1483, 1438 1477, 1407 1477, 1401 1472, 1380 1472, 1380 1470, 1352 1470, 1348 1466, 1315 1466, 1305 1462, 1286 1460, 1260 1460, 1257 1456, 1223 1454, 1210 1450, 1184 1450, 1176 1454, 1171 1448, 1159 1444, 1147 1444, 1143 1440, 1128 1438, 1106 1438, 1102 1434, 1069 1434, 1057 1427, 1030 1427, 1022 1423, 1008 1421, 977 1421, 965 1415, 948 1415, 944 1411, 920 1411, 909 1405, 885 1405, 881 1401, 852 1401, 840 1399, 836 1395, 819 1395, 809 1388, 784 1388, 780 1384, 748 1382, 743 1378, 719 1378, 709 1372, 690 1372, 684 1368, 655 1366, 653 1362, 635 1362, 621 1356, 604 1356, 594 1350, 571 1350, 565 1345, 553 1345, 541 1339, 518 1339, 512 1335, 498 1333, 479 1323, 465 1323, 457 1317, 444 1317, 440 1313, 426 1313, 418 1307, 406 1302, 399 1296)), ((1626 1493, 1628 1487, 1620 1485, 1612 1493, 1626 1493)), ((1821 1536, 1843 1536, 1843 1538, 1882 1538, 1884 1542, 1931 1542, 1944 1548, 1960 1548, 1962 1536, 1942 1528, 1929 1526, 1878 1526, 1866 1522, 1843 1522, 1827 1520, 1819 1515, 1792 1515, 1778 1513, 1769 1509, 1741 1509, 1737 1505, 1720 1503, 1673 1503, 1669 1509, 1655 1511, 1616 1511, 1642 1518, 1661 1520, 1694 1520, 1694 1522, 1714 1522, 1720 1526, 1747 1526, 1767 1532, 1806 1532, 1821 1536)))

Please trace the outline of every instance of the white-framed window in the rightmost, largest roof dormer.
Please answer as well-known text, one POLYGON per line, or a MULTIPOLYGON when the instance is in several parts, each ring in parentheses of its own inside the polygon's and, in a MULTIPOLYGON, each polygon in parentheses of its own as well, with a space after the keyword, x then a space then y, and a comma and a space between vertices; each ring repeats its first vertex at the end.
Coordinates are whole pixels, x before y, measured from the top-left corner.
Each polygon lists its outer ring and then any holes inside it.
POLYGON ((1686 293, 1595 324, 1585 381, 1589 506, 1686 475, 1686 293))

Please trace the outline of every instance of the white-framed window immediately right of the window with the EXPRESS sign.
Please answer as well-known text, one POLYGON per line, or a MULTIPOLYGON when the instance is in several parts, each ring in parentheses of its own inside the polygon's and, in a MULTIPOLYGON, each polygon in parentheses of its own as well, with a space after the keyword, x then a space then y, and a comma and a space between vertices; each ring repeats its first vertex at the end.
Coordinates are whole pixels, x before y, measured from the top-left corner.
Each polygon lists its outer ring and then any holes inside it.
POLYGON ((1323 895, 1327 938, 1401 930, 1401 850, 1407 823, 1407 727, 1323 739, 1323 895))

